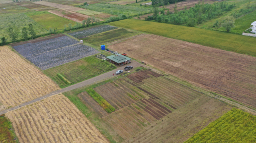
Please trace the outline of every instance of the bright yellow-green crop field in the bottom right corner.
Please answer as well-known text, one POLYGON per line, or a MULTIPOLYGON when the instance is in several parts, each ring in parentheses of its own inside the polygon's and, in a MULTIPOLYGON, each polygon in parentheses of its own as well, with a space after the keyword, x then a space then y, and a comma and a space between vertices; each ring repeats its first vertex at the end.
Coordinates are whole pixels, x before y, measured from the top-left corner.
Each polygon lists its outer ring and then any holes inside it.
POLYGON ((254 143, 256 116, 233 108, 184 143, 254 143))

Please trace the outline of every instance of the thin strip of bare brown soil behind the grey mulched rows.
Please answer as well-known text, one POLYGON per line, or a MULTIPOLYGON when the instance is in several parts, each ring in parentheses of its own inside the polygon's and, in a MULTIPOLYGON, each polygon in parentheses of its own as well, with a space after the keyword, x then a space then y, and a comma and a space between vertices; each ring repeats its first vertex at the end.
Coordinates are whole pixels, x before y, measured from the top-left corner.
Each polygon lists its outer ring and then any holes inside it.
POLYGON ((14 47, 14 46, 23 45, 23 44, 26 44, 26 43, 36 43, 36 42, 46 41, 46 40, 50 40, 50 39, 54 39, 54 38, 58 38, 58 37, 62 37, 62 36, 65 36, 65 35, 64 34, 57 34, 57 35, 39 37, 39 38, 28 40, 28 41, 12 43, 12 44, 10 44, 10 46, 14 47))

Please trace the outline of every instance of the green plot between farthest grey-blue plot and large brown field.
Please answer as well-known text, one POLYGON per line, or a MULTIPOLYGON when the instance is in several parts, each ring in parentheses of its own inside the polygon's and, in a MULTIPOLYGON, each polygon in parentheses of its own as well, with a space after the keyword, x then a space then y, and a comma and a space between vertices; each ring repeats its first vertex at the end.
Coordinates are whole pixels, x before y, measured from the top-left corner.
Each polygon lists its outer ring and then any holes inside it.
POLYGON ((102 44, 110 43, 119 39, 131 37, 138 34, 140 33, 121 28, 121 29, 116 29, 116 30, 92 35, 90 37, 85 37, 82 40, 86 43, 99 46, 102 44))

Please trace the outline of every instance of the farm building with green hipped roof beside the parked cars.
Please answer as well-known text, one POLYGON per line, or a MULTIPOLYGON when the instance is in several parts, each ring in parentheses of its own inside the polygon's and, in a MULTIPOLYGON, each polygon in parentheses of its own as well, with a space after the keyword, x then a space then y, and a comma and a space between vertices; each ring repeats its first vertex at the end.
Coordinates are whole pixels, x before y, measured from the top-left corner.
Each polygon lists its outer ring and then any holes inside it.
POLYGON ((111 63, 113 64, 118 64, 118 66, 120 65, 124 65, 127 63, 131 63, 131 58, 126 57, 124 55, 121 54, 117 54, 117 55, 111 55, 106 57, 111 63))

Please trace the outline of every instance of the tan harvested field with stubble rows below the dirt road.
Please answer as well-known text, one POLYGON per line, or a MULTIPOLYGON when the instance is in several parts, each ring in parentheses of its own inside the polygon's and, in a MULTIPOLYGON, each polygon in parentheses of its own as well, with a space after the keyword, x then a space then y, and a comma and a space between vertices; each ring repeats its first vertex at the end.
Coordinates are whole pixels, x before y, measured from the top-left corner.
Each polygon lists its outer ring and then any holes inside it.
POLYGON ((108 143, 64 95, 8 112, 20 143, 108 143))

